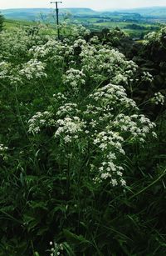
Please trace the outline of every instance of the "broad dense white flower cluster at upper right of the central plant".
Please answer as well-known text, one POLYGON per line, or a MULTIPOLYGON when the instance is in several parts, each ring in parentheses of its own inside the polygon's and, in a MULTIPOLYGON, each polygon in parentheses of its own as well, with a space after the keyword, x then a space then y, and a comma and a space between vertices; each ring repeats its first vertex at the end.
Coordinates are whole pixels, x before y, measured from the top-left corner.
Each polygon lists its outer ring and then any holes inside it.
POLYGON ((90 77, 100 82, 110 79, 110 83, 128 84, 138 66, 127 61, 125 55, 115 49, 99 48, 86 43, 80 54, 82 68, 90 77))

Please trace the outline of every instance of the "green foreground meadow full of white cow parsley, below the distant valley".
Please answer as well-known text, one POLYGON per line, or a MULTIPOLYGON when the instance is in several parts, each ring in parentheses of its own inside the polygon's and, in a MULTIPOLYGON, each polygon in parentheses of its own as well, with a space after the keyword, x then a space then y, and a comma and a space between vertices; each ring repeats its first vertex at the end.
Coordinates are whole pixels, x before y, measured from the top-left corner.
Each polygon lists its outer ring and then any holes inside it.
POLYGON ((164 255, 166 27, 135 45, 15 24, 0 32, 0 255, 164 255))

